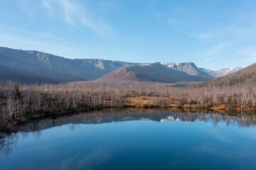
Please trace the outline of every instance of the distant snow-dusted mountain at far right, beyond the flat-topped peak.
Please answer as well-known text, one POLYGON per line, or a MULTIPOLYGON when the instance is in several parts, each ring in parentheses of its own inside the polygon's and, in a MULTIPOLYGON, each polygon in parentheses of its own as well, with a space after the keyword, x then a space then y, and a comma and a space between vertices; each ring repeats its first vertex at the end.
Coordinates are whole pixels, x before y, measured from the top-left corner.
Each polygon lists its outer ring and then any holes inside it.
POLYGON ((247 66, 240 66, 240 67, 230 67, 230 68, 225 68, 225 69, 218 69, 218 70, 210 70, 210 69, 203 69, 200 68, 201 71, 206 72, 207 74, 210 74, 210 76, 218 78, 218 77, 223 77, 225 75, 238 72, 240 69, 244 69, 247 66))

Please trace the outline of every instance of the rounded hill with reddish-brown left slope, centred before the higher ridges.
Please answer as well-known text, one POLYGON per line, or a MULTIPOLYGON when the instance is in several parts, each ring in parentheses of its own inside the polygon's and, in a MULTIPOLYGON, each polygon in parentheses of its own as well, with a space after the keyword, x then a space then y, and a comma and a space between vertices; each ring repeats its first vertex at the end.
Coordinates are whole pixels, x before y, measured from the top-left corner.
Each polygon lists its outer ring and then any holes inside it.
POLYGON ((206 81, 210 77, 194 76, 186 72, 169 69, 160 62, 123 67, 97 79, 97 82, 113 83, 122 81, 152 81, 161 83, 182 83, 206 81))

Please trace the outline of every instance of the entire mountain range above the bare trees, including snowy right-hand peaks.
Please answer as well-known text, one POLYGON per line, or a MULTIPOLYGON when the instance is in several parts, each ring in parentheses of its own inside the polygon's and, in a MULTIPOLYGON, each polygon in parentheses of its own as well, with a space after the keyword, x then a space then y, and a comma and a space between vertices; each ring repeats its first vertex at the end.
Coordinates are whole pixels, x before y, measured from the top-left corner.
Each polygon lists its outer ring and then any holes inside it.
POLYGON ((0 47, 0 80, 18 83, 66 83, 95 80, 155 81, 164 83, 206 81, 236 72, 243 67, 212 71, 193 62, 132 63, 100 59, 68 59, 34 50, 0 47))

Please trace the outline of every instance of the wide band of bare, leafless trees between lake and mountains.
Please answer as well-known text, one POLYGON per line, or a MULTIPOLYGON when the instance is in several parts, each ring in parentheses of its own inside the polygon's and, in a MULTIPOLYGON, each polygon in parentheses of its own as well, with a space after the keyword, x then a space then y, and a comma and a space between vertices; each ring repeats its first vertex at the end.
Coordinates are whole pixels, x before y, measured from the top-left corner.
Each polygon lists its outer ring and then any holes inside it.
POLYGON ((142 84, 0 84, 0 125, 79 108, 173 107, 256 110, 255 73, 185 87, 142 84), (239 83, 237 83, 239 82, 239 83), (139 97, 139 99, 138 99, 139 97))

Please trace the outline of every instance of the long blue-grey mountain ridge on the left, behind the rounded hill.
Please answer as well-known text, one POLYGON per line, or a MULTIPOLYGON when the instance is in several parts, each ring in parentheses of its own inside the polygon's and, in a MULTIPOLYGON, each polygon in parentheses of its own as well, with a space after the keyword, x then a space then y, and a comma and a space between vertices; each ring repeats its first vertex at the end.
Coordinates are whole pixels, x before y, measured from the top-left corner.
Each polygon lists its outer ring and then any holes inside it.
POLYGON ((0 80, 60 83, 98 79, 136 63, 100 59, 67 59, 44 52, 0 47, 0 80))

